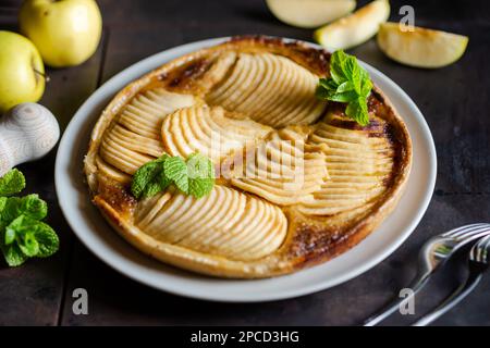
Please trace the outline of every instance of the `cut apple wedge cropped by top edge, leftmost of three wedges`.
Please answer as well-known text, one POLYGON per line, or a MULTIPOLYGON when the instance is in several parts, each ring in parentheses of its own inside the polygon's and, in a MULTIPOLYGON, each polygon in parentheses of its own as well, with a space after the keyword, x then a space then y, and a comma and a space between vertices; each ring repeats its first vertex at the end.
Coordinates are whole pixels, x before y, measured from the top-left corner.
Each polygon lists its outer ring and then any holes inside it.
POLYGON ((351 13, 355 0, 267 0, 272 14, 285 24, 316 28, 351 13))

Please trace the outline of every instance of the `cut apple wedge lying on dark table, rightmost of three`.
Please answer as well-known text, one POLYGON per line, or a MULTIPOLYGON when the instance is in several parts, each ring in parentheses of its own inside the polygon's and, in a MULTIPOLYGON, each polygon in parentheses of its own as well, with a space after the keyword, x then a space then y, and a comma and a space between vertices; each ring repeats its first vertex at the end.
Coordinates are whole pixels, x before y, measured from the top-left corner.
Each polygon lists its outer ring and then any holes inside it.
POLYGON ((416 67, 442 67, 457 61, 468 37, 446 32, 384 23, 378 33, 381 51, 392 60, 416 67))

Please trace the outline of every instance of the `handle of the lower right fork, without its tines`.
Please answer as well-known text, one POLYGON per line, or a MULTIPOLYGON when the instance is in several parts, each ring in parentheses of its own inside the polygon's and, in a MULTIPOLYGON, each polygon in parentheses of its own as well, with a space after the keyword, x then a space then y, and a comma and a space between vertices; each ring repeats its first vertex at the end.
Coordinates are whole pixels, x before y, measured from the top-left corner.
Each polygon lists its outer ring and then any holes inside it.
POLYGON ((412 324, 412 326, 426 326, 437 320, 439 316, 443 315, 457 303, 460 303, 469 293, 475 289, 481 279, 482 272, 473 271, 469 273, 466 282, 461 285, 453 294, 451 294, 439 307, 437 307, 432 312, 420 318, 417 322, 412 324))

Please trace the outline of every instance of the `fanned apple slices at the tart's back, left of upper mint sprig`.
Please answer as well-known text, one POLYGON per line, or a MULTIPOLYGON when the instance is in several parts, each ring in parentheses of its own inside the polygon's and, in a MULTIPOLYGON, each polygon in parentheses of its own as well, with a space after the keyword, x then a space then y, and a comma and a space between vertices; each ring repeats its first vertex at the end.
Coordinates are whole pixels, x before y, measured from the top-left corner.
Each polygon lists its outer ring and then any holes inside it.
POLYGON ((272 127, 314 123, 324 102, 315 98, 318 76, 292 60, 270 53, 241 53, 228 78, 206 99, 272 127))

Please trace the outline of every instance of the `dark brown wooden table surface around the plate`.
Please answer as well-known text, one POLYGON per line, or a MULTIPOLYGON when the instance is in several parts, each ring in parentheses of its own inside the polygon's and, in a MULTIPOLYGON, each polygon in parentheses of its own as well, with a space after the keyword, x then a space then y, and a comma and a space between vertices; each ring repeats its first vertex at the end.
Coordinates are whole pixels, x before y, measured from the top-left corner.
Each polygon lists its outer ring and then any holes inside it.
MULTIPOLYGON (((16 29, 21 1, 0 2, 0 29, 16 29)), ((366 1, 359 1, 365 3, 366 1)), ((238 34, 311 39, 311 30, 278 22, 262 0, 100 0, 103 38, 96 54, 73 69, 49 70, 41 102, 64 129, 83 101, 103 82, 138 60, 195 40, 238 34)), ((50 207, 49 223, 61 235, 60 252, 17 269, 0 262, 0 325, 353 325, 382 306, 415 273, 416 254, 431 235, 490 221, 490 5, 488 1, 391 1, 391 20, 403 4, 415 8, 416 25, 468 35, 469 47, 451 66, 425 71, 399 65, 373 40, 352 50, 395 80, 418 104, 438 151, 438 181, 430 207, 409 239, 369 272, 332 289, 258 304, 191 300, 137 284, 96 259, 74 236, 54 192, 56 151, 21 170, 27 190, 50 207), (74 315, 72 291, 86 288, 89 314, 74 315)), ((83 149, 81 149, 82 151, 83 149)), ((401 207, 401 209, 403 209, 401 207)), ((464 276, 450 264, 417 297, 422 314, 464 276)), ((395 315, 403 325, 414 316, 395 315)), ((439 325, 490 325, 490 277, 439 325)))

